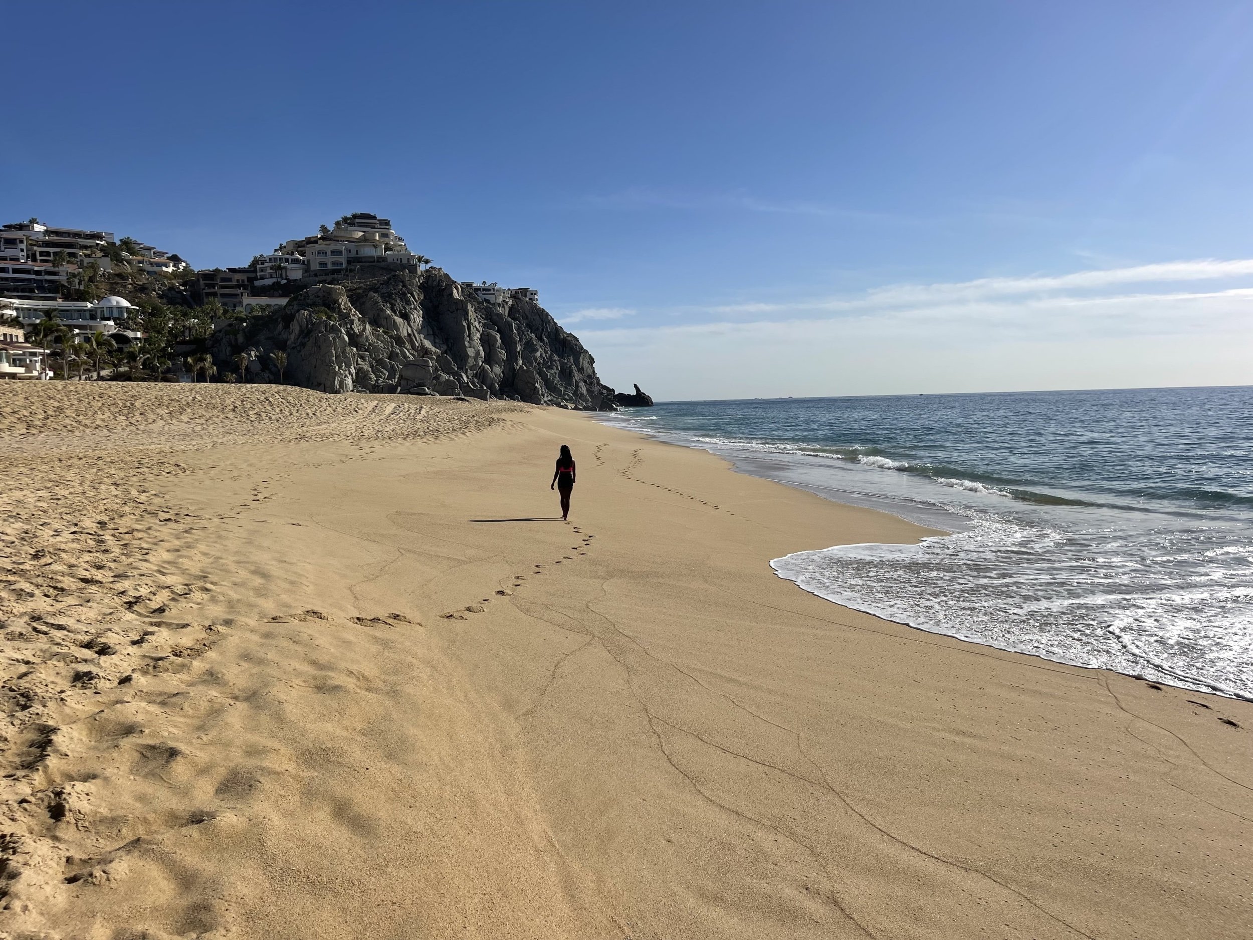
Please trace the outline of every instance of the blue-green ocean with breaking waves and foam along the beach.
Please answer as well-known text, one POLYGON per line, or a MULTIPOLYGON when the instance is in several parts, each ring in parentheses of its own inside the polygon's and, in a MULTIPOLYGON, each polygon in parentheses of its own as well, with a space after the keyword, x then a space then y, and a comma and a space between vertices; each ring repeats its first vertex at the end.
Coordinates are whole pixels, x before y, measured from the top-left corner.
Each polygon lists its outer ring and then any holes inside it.
POLYGON ((663 402, 606 420, 949 533, 771 561, 808 592, 1253 699, 1253 387, 663 402))

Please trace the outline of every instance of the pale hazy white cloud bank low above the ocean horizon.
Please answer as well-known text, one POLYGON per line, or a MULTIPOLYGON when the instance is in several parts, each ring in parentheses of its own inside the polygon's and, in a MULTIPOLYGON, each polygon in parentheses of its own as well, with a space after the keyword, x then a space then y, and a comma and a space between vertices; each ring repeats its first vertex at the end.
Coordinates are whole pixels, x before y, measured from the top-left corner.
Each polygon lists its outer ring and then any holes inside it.
POLYGON ((1250 278, 1239 259, 893 285, 580 338, 610 385, 663 400, 1253 384, 1250 278))

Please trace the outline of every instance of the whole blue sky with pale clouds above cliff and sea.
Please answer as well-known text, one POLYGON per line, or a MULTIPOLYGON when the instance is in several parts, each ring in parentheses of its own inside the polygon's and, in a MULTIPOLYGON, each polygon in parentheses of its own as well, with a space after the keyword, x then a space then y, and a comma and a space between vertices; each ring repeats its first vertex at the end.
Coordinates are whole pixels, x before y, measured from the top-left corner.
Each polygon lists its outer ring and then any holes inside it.
POLYGON ((1203 1, 3 3, 0 214, 209 267, 376 212, 663 397, 1253 382, 1250 40, 1203 1))

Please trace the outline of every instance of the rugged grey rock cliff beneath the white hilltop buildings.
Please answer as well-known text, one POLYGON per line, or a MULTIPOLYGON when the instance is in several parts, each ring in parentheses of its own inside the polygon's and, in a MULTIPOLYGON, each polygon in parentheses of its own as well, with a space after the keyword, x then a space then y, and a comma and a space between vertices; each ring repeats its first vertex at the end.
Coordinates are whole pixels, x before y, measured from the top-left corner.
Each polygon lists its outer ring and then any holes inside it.
POLYGON ((271 353, 283 351, 287 382, 326 392, 614 407, 591 355, 543 307, 486 303, 437 268, 311 287, 274 313, 221 327, 209 350, 222 373, 248 356, 249 381, 278 381, 271 353))

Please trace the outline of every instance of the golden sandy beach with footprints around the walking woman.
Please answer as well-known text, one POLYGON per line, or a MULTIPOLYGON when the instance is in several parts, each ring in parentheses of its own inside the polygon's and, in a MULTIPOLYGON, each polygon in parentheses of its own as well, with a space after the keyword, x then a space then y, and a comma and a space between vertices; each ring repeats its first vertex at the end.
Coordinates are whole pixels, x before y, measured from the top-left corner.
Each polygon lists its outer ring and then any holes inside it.
POLYGON ((892 516, 504 402, 8 382, 0 454, 3 937, 1253 935, 1253 708, 768 567, 892 516))

